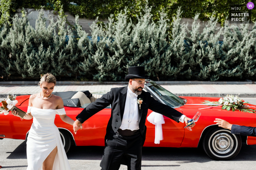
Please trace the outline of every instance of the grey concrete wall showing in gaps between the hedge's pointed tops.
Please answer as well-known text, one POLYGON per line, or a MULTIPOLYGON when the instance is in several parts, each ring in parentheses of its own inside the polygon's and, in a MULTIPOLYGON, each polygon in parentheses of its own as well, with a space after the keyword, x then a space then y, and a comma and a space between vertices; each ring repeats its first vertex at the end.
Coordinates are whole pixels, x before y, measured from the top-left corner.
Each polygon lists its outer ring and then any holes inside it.
MULTIPOLYGON (((20 9, 19 9, 20 11, 20 9)), ((35 27, 35 21, 38 17, 38 12, 35 10, 35 9, 29 9, 27 8, 26 9, 27 11, 27 15, 29 17, 29 23, 30 25, 32 25, 33 27, 35 27)), ((21 13, 19 12, 18 13, 20 16, 21 16, 21 13)), ((75 24, 75 17, 72 16, 69 12, 65 12, 65 15, 67 15, 67 20, 68 22, 71 24, 71 25, 74 25, 75 24)), ((45 17, 49 17, 50 19, 51 18, 58 18, 58 12, 56 11, 53 11, 53 10, 45 10, 45 17)), ((86 18, 79 18, 79 24, 82 26, 82 29, 84 31, 86 31, 87 33, 89 33, 89 35, 91 35, 91 29, 90 29, 90 25, 94 22, 95 20, 90 20, 90 19, 86 19, 86 18)), ((99 20, 99 21, 103 21, 104 23, 107 23, 108 20, 105 19, 105 20, 99 20)), ((194 19, 192 18, 182 18, 181 20, 181 23, 185 23, 187 24, 188 23, 188 29, 191 30, 192 29, 192 23, 193 23, 194 19)), ((197 23, 200 23, 200 28, 199 28, 199 33, 202 33, 203 31, 203 28, 205 27, 205 25, 207 25, 207 21, 204 22, 204 25, 203 25, 203 21, 201 20, 198 20, 197 23)), ((46 26, 48 26, 49 24, 49 21, 47 21, 46 23, 46 26)), ((234 25, 234 24, 229 24, 229 25, 234 25)), ((236 24, 236 25, 239 25, 239 24, 236 24)), ((221 24, 220 23, 217 23, 217 26, 220 28, 221 27, 221 24)), ((252 26, 253 24, 249 24, 249 28, 248 30, 249 31, 252 31, 252 26)), ((216 32, 217 33, 217 32, 216 32)), ((223 40, 223 36, 221 35, 220 41, 223 40)))

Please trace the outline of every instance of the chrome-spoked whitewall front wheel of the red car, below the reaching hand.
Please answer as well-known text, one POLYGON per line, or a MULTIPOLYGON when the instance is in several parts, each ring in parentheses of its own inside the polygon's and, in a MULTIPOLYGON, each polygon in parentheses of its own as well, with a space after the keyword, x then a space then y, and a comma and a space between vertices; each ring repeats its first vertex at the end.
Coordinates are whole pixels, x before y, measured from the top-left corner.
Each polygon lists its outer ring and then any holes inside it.
POLYGON ((240 135, 231 134, 230 130, 222 127, 210 129, 203 139, 206 154, 215 160, 225 161, 233 159, 242 146, 240 135))

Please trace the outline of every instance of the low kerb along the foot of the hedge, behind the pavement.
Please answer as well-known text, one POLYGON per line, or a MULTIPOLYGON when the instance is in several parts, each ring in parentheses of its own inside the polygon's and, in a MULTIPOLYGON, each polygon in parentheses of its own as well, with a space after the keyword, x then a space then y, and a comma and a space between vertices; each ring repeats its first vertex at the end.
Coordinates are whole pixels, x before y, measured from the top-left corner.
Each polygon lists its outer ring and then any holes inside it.
MULTIPOLYGON (((56 84, 127 84, 128 82, 68 82, 57 81, 56 84)), ((158 81, 157 84, 256 84, 256 82, 204 82, 204 81, 158 81)), ((38 81, 0 82, 0 84, 38 84, 38 81)))

